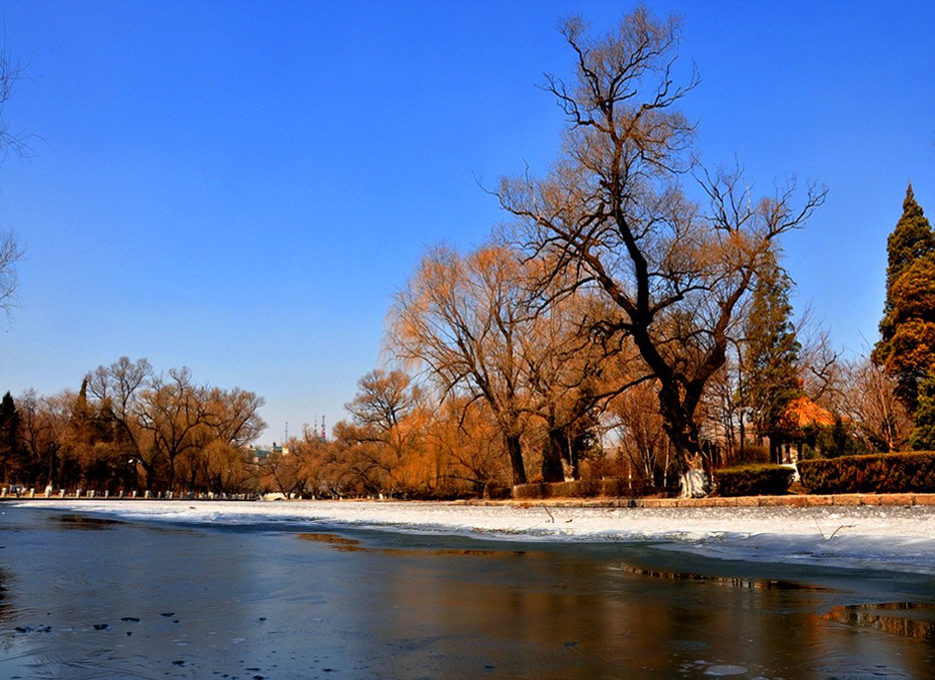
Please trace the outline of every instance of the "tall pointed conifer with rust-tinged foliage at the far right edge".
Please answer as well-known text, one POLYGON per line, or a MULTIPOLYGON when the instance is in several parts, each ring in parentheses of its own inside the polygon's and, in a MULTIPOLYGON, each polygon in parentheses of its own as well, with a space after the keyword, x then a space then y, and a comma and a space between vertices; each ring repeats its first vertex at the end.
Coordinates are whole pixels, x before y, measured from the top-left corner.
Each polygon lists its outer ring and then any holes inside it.
POLYGON ((873 361, 896 378, 899 400, 914 413, 919 383, 935 367, 935 234, 912 184, 886 248, 886 303, 873 361))

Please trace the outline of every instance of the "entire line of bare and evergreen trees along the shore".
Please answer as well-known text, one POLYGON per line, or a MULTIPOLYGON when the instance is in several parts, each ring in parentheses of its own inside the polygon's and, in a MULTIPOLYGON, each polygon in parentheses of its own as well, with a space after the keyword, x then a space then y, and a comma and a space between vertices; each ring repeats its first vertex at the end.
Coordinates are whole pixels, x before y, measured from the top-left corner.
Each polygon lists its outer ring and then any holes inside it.
POLYGON ((486 243, 425 252, 390 309, 385 364, 330 438, 306 428, 259 455, 262 398, 122 358, 77 392, 7 394, 3 479, 430 498, 589 475, 665 489, 781 462, 789 441, 804 456, 935 447, 935 235, 912 187, 881 340, 843 361, 807 312, 793 321, 782 264, 826 190, 792 178, 757 196, 740 166, 699 162, 677 19, 639 7, 606 35, 578 18, 561 30, 575 65, 543 86, 567 121, 555 162, 490 190, 508 219, 486 243))

